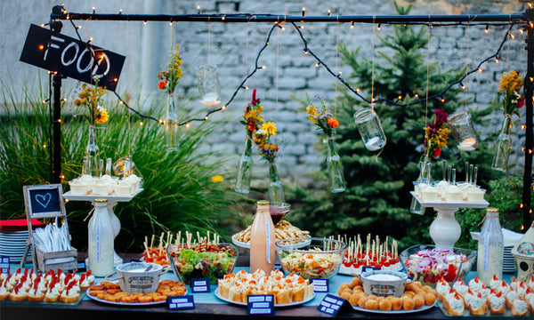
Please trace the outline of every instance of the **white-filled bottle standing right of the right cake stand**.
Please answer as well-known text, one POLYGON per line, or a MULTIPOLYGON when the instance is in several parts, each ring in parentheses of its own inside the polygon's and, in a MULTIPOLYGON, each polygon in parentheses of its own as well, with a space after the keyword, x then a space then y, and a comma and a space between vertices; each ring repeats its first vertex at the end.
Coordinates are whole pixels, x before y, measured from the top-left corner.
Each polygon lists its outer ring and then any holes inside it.
POLYGON ((479 279, 490 284, 493 275, 503 278, 505 237, 498 221, 498 209, 486 209, 486 218, 479 237, 476 273, 479 279))

